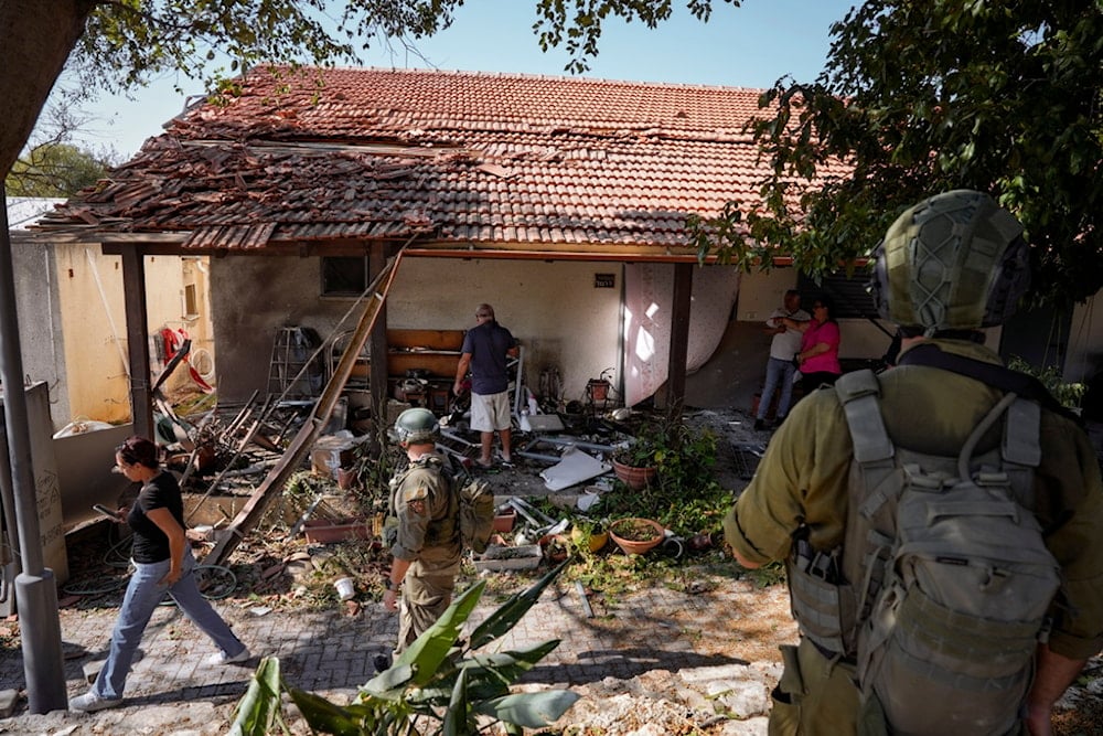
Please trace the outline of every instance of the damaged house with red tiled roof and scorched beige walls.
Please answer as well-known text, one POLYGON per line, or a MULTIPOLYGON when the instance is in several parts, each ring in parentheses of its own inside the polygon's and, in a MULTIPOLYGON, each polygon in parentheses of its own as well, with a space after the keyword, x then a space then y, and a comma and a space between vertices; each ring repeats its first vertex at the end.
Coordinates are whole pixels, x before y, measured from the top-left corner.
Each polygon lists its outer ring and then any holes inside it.
MULTIPOLYGON (((165 124, 36 237, 119 258, 130 375, 150 364, 151 259, 205 258, 221 406, 258 393, 315 397, 343 372, 352 416, 405 398, 411 376, 418 399, 441 409, 462 333, 490 302, 542 402, 586 402, 608 381, 617 404, 749 409, 769 348, 762 320, 785 289, 822 288, 782 258, 765 273, 700 267, 687 245, 688 215, 758 196, 765 162, 745 132, 758 98, 590 78, 257 68, 165 124)), ((861 301, 860 286, 837 286, 861 301)), ((1091 311, 1073 319, 1090 324, 1091 311)), ((884 354, 888 331, 865 305, 840 316, 844 360, 884 354)), ((1060 354, 1088 361, 1094 334, 1063 334, 1060 354)), ((149 386, 130 383, 144 433, 149 386)))

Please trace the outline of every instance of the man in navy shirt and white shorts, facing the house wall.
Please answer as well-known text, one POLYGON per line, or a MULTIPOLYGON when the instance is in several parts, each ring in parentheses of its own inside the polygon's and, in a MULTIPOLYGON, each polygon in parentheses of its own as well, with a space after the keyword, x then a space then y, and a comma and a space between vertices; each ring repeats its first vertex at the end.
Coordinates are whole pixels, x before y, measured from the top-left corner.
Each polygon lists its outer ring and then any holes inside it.
POLYGON ((494 433, 502 441, 502 460, 513 462, 510 447, 508 359, 517 354, 517 341, 513 334, 494 319, 494 308, 479 305, 475 310, 478 324, 463 335, 460 363, 456 369, 456 385, 459 396, 463 391, 463 378, 471 371, 471 428, 480 433, 481 454, 476 462, 482 468, 494 465, 494 433))

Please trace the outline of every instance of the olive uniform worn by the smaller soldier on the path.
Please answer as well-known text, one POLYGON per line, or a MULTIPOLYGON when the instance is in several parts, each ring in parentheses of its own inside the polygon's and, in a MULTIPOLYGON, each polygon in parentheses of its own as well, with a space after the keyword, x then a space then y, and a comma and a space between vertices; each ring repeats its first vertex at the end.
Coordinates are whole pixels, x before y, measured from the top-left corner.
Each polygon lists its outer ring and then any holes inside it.
POLYGON ((445 612, 460 572, 459 501, 443 471, 446 463, 441 455, 430 452, 392 481, 397 538, 390 554, 410 563, 403 582, 396 655, 445 612))

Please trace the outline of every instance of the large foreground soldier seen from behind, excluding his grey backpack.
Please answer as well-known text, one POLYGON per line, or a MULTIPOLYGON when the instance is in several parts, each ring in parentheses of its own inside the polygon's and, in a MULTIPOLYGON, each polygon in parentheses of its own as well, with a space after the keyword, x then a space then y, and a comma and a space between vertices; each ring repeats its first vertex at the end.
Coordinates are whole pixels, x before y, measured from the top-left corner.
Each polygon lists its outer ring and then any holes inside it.
MULTIPOLYGON (((985 365, 1009 373, 984 345, 982 330, 1002 324, 1028 284, 1022 227, 987 194, 963 190, 932 196, 889 227, 876 249, 870 286, 880 313, 903 335, 899 365, 876 377, 881 418, 895 447, 957 456, 979 419, 1005 395, 957 367, 965 362, 981 365, 976 375, 985 374, 985 365)), ((1063 579, 1050 607, 1048 641, 1037 646, 1020 730, 1048 734, 1053 703, 1086 659, 1103 648, 1103 481, 1085 433, 1051 399, 1038 396, 1037 403, 1035 516, 1063 579)), ((790 417, 724 522, 727 542, 745 567, 793 559, 802 545, 813 554, 838 552, 846 558, 857 460, 839 394, 816 391, 790 417)), ((985 441, 998 447, 998 434, 985 441)), ((856 557, 850 559, 854 565, 856 557)), ((868 567, 868 562, 856 564, 868 567)), ((863 733, 877 733, 867 730, 870 710, 856 684, 855 652, 814 642, 800 616, 797 620, 800 643, 782 648, 784 674, 773 691, 770 733, 855 734, 859 721, 863 733)), ((932 712, 939 705, 931 703, 932 712)), ((879 733, 892 733, 886 716, 877 717, 877 726, 887 728, 879 733)), ((938 733, 953 732, 943 727, 938 733)))

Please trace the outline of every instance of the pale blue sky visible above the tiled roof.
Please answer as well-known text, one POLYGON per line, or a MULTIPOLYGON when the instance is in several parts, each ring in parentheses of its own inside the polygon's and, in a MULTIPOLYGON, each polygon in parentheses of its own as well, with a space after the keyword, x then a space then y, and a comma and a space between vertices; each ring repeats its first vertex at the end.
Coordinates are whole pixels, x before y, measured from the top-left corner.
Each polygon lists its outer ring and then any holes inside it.
MULTIPOLYGON (((599 54, 586 76, 639 82, 768 87, 783 75, 812 81, 823 68, 828 29, 852 0, 743 0, 732 8, 714 0, 713 18, 700 23, 675 0, 674 17, 657 29, 620 19, 606 22, 599 54)), ((532 31, 535 0, 467 0, 447 31, 417 42, 425 60, 400 46, 364 52, 365 64, 437 67, 470 72, 565 75, 566 52, 543 53, 532 31)), ((197 82, 181 84, 200 95, 197 82)), ((129 159, 161 125, 183 109, 173 79, 132 92, 135 99, 105 97, 86 109, 93 121, 78 145, 111 148, 129 159)))

